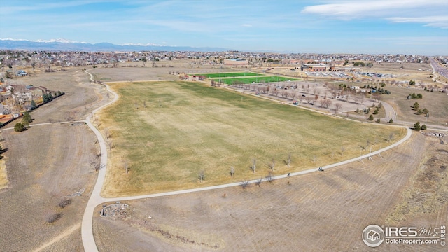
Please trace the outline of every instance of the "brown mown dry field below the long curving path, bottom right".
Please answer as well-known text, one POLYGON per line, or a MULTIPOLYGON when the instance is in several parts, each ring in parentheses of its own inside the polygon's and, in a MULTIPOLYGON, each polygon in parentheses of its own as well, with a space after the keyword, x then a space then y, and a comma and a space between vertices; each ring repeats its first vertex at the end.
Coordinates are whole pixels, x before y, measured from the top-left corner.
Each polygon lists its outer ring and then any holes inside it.
MULTIPOLYGON (((125 216, 94 217, 95 239, 99 251, 371 251, 361 239, 367 225, 446 225, 447 146, 414 133, 373 162, 245 190, 130 201, 125 216), (414 197, 425 193, 427 200, 414 197)), ((444 247, 381 244, 375 250, 444 247)))

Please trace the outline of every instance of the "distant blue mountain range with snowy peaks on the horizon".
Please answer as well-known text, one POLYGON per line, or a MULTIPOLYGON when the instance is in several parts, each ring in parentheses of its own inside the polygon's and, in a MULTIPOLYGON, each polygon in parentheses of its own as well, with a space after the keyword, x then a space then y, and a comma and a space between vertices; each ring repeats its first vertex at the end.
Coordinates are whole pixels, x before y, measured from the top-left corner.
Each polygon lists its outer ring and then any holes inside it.
POLYGON ((112 43, 80 43, 65 40, 27 41, 14 39, 0 39, 0 50, 49 50, 49 51, 190 51, 190 52, 223 52, 225 48, 195 48, 190 46, 168 45, 114 45, 112 43))

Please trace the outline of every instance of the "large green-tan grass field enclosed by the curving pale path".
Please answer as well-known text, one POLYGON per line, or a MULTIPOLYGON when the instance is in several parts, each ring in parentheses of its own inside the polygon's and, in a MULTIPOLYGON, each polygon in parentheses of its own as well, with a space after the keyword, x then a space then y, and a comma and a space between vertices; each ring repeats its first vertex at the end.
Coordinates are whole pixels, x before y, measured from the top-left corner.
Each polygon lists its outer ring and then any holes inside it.
POLYGON ((100 128, 108 128, 115 146, 103 192, 109 196, 257 179, 267 176, 273 158, 273 174, 286 174, 365 154, 367 140, 374 151, 389 144, 391 133, 394 139, 405 134, 401 128, 329 118, 202 83, 111 87, 120 100, 99 115, 100 128))

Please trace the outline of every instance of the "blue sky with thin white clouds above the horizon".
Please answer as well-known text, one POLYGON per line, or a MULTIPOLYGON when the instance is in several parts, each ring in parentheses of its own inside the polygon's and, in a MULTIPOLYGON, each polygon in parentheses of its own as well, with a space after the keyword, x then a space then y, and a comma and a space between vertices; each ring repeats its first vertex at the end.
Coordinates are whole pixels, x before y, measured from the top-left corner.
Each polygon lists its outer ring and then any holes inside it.
POLYGON ((0 38, 448 55, 448 0, 0 0, 0 38))

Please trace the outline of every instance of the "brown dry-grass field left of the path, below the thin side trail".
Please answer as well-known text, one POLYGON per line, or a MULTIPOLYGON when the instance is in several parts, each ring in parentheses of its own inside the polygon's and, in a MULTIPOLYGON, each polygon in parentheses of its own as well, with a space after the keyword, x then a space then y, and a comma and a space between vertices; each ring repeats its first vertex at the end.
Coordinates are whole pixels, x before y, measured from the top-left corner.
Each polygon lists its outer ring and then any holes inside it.
MULTIPOLYGON (((10 187, 0 193, 0 244, 5 251, 31 251, 80 223, 96 177, 89 165, 94 138, 87 126, 57 123, 3 136, 10 187), (86 194, 69 197, 83 188, 86 194), (71 204, 58 207, 67 197, 71 204), (58 221, 47 223, 58 213, 58 221)), ((70 241, 74 251, 80 250, 79 241, 70 241)))

